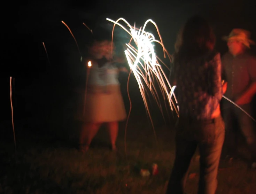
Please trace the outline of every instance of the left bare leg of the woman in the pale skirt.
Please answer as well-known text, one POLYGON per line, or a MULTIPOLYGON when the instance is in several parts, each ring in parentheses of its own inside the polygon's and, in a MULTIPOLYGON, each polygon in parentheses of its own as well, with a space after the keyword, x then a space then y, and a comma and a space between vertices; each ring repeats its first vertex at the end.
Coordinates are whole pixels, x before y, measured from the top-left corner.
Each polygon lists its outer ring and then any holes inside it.
POLYGON ((82 152, 86 152, 99 131, 101 123, 85 123, 83 124, 82 131, 80 133, 80 149, 82 152))

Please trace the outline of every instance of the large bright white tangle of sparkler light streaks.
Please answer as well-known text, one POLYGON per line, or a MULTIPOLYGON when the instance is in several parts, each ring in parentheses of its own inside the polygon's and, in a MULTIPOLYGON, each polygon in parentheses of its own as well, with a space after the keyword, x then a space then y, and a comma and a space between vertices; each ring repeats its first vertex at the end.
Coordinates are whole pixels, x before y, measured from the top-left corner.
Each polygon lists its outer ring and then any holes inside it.
MULTIPOLYGON (((178 102, 176 96, 174 94, 174 89, 176 86, 171 86, 168 81, 168 78, 164 74, 164 71, 161 67, 161 64, 164 64, 155 54, 154 45, 153 43, 158 43, 163 48, 164 57, 167 54, 170 59, 170 54, 166 51, 162 37, 158 30, 156 23, 152 20, 147 20, 143 27, 139 30, 135 28, 135 26, 131 26, 124 18, 119 18, 117 21, 113 21, 107 18, 108 21, 113 22, 113 31, 112 31, 112 38, 115 25, 120 26, 124 29, 128 34, 131 36, 131 41, 126 44, 127 49, 124 51, 126 55, 127 62, 130 66, 131 71, 133 72, 140 89, 140 93, 142 95, 143 102, 145 107, 149 113, 148 103, 146 100, 146 88, 148 87, 152 95, 154 96, 158 107, 160 106, 160 98, 157 94, 156 83, 160 86, 162 95, 167 97, 171 110, 175 110, 177 115, 178 114, 178 102), (129 27, 129 29, 125 28, 123 25, 118 23, 119 21, 123 21, 129 27), (152 33, 145 31, 147 23, 152 23, 158 33, 160 40, 156 40, 155 36, 152 33), (135 44, 135 47, 131 44, 132 40, 135 44), (175 103, 173 101, 173 98, 175 103), (177 106, 177 107, 176 107, 177 106)), ((171 59, 170 59, 171 60, 171 59)), ((165 65, 165 64, 164 64, 165 65)))

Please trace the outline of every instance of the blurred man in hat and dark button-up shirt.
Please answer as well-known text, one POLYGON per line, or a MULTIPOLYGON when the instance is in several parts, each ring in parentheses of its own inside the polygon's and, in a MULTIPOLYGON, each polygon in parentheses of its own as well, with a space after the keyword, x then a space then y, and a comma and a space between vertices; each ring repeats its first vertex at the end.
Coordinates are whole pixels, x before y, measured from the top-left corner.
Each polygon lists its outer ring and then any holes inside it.
MULTIPOLYGON (((243 29, 233 29, 229 36, 223 37, 223 39, 227 41, 229 50, 222 57, 223 76, 227 81, 225 96, 252 115, 253 110, 250 103, 256 94, 256 57, 251 56, 248 50, 254 42, 250 40, 250 32, 243 29)), ((231 142, 231 134, 234 134, 233 122, 237 121, 251 151, 252 167, 255 168, 256 134, 253 119, 227 100, 223 100, 223 118, 228 136, 226 146, 231 148, 233 144, 231 150, 234 150, 232 154, 235 156, 237 149, 234 147, 237 146, 237 143, 231 142)))

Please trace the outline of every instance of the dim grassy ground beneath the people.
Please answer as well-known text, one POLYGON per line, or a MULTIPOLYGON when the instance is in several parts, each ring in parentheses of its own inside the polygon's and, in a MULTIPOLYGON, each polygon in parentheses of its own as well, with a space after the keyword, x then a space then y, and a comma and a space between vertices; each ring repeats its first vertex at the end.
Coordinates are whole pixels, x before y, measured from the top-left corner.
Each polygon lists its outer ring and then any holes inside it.
MULTIPOLYGON (((174 160, 174 132, 168 127, 156 126, 157 146, 153 130, 142 123, 129 122, 127 158, 125 123, 120 125, 118 153, 111 152, 104 127, 86 154, 79 153, 70 141, 58 140, 52 135, 17 133, 15 160, 11 135, 9 139, 2 138, 0 193, 165 193, 174 160), (153 163, 158 164, 159 174, 141 177, 139 170, 151 170, 153 163)), ((189 171, 187 193, 196 193, 198 171, 198 157, 195 157, 189 171)), ((218 180, 219 194, 253 194, 256 191, 256 173, 242 160, 221 161, 218 180)))

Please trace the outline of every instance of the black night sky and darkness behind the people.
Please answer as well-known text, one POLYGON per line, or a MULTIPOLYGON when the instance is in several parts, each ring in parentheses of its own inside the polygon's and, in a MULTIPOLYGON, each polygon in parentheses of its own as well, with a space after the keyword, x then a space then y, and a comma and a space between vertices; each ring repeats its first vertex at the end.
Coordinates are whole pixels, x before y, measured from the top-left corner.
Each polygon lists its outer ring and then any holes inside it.
MULTIPOLYGON (((76 43, 64 21, 74 34, 83 59, 88 57, 87 48, 97 39, 111 40, 112 23, 107 17, 116 20, 125 18, 130 24, 142 26, 147 19, 158 25, 163 42, 169 53, 174 52, 177 33, 186 20, 199 14, 214 27, 217 37, 216 49, 224 54, 227 46, 221 40, 233 28, 243 28, 251 32, 256 41, 256 6, 245 0, 148 0, 148 1, 23 1, 22 5, 10 5, 2 15, 2 67, 1 101, 2 124, 0 136, 13 141, 10 108, 10 76, 13 83, 14 123, 17 134, 53 133, 56 137, 61 128, 68 131, 70 122, 79 105, 79 90, 85 86, 86 69, 80 62, 76 43), (83 25, 92 29, 94 35, 83 25), (49 61, 42 44, 45 43, 49 61)), ((15 4, 13 2, 13 4, 15 4)), ((153 31, 154 32, 154 31, 153 31)), ((154 32, 156 33, 156 32, 154 32)), ((127 36, 116 30, 114 39, 117 45, 125 42, 127 36), (116 35, 115 35, 116 34, 116 35)), ((251 51, 256 54, 255 46, 251 51)), ((161 50, 160 50, 161 52, 161 50)), ((163 56, 161 56, 163 59, 163 56)), ((164 60, 168 65, 168 60, 164 60)), ((128 68, 128 65, 127 65, 128 68)), ((120 77, 121 90, 127 112, 127 75, 120 77)), ((133 114, 145 114, 145 107, 136 81, 131 78, 130 92, 133 114)), ((154 110, 154 105, 152 110, 154 110)), ((170 113, 170 112, 169 112, 170 113)), ((145 114, 146 115, 146 114, 145 114)), ((163 123, 158 110, 155 120, 163 123)), ((171 121, 173 122, 173 121, 171 121)), ((173 124, 173 123, 169 123, 173 124)), ((62 136, 69 132, 61 132, 62 136), (64 134, 65 133, 65 134, 64 134)), ((1 140, 0 138, 0 140, 1 140)), ((66 138, 66 137, 65 137, 66 138)), ((1 191, 0 191, 1 193, 1 191)))

